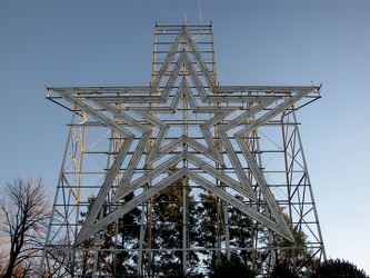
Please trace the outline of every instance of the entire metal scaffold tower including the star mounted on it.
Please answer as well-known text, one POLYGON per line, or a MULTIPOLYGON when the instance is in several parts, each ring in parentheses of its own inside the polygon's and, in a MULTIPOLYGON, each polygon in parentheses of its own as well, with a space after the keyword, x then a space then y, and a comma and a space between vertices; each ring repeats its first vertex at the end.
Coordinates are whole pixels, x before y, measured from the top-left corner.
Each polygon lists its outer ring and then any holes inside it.
POLYGON ((207 274, 236 256, 264 275, 324 258, 296 118, 320 87, 220 86, 212 26, 161 23, 149 86, 47 98, 72 121, 40 274, 207 274))

